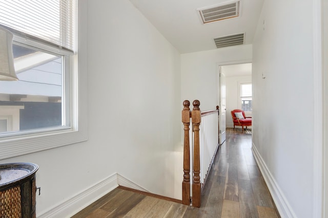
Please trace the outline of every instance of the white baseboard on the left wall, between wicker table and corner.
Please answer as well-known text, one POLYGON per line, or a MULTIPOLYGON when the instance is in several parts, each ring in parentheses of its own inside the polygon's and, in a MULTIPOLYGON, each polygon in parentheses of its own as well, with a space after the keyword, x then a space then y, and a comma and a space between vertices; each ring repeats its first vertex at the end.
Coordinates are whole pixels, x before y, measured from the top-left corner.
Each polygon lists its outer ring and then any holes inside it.
POLYGON ((117 173, 109 176, 105 180, 91 186, 90 188, 84 190, 83 192, 75 195, 75 197, 65 201, 51 210, 44 212, 43 214, 37 214, 38 218, 63 218, 71 217, 78 211, 89 206, 96 200, 103 197, 105 194, 109 193, 118 186, 117 184, 117 173))

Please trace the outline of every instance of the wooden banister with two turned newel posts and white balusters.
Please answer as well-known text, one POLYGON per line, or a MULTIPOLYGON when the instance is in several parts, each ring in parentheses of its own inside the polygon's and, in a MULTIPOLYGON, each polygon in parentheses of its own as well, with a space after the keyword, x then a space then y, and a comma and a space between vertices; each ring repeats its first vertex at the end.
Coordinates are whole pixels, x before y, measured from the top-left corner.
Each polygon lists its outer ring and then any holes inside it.
POLYGON ((182 181, 182 204, 191 205, 193 207, 200 207, 201 204, 201 186, 206 181, 207 173, 209 172, 214 156, 218 149, 218 142, 216 142, 217 130, 215 123, 218 122, 218 106, 216 110, 201 112, 199 109, 200 102, 198 100, 193 101, 193 110, 190 111, 190 101, 183 101, 182 123, 184 130, 183 137, 183 181, 182 181), (190 118, 193 129, 193 145, 190 145, 190 118), (201 119, 203 119, 203 125, 200 126, 201 119), (214 124, 214 127, 213 127, 214 124), (199 135, 199 129, 201 127, 201 135, 199 135), (200 147, 200 137, 201 147, 200 147), (204 137, 207 137, 204 140, 204 137), (206 143, 204 143, 206 141, 206 143), (193 147, 193 159, 190 160, 191 150, 190 146, 193 147), (202 157, 200 157, 202 152, 202 157), (200 166, 200 162, 202 166, 200 166), (192 183, 190 181, 190 168, 193 169, 192 183), (200 173, 201 172, 201 173, 200 173), (201 181, 203 184, 201 183, 201 181), (192 185, 191 185, 192 184, 192 185), (191 198, 192 190, 192 198, 191 198))

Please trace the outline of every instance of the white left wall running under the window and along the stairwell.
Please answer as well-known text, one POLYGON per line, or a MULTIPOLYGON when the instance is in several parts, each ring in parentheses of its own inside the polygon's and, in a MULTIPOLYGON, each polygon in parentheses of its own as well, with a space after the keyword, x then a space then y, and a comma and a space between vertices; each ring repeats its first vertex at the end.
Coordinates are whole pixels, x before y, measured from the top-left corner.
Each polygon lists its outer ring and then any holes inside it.
POLYGON ((39 165, 37 215, 116 172, 181 199, 180 54, 128 0, 81 2, 88 8, 89 140, 0 163, 39 165))

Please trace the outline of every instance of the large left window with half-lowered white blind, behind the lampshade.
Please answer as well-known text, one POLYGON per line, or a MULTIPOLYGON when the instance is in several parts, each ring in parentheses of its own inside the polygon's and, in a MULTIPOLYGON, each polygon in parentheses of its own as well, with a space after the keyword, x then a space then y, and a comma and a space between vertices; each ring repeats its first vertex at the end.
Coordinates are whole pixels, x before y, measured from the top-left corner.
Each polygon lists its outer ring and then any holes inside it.
POLYGON ((0 81, 0 117, 11 118, 2 119, 0 137, 70 128, 74 11, 72 0, 0 1, 19 79, 0 81))

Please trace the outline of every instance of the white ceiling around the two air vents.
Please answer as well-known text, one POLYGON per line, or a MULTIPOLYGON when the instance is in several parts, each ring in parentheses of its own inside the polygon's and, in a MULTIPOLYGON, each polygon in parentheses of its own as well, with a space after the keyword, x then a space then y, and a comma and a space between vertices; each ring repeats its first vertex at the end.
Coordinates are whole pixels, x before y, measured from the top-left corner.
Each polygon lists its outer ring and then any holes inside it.
POLYGON ((130 0, 182 54, 217 49, 214 38, 245 33, 252 44, 263 0, 240 0, 239 17, 203 24, 197 9, 227 0, 130 0))

